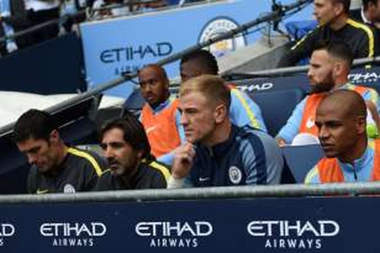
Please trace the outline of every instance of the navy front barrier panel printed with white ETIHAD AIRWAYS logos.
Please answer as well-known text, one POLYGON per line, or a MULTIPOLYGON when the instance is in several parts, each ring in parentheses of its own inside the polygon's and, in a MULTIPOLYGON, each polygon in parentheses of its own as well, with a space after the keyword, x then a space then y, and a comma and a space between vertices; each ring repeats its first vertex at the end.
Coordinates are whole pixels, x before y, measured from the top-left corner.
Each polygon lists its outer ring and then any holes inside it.
POLYGON ((349 196, 3 204, 0 251, 370 253, 379 209, 349 196))

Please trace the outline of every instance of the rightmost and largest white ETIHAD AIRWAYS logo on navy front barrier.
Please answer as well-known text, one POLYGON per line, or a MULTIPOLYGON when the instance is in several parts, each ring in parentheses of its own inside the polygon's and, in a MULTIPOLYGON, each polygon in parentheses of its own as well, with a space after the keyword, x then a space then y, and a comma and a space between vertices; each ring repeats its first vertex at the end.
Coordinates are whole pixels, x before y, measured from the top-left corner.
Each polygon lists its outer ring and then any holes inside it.
POLYGON ((336 221, 251 221, 247 225, 248 234, 264 237, 265 248, 322 248, 322 239, 337 236, 340 226, 336 221))

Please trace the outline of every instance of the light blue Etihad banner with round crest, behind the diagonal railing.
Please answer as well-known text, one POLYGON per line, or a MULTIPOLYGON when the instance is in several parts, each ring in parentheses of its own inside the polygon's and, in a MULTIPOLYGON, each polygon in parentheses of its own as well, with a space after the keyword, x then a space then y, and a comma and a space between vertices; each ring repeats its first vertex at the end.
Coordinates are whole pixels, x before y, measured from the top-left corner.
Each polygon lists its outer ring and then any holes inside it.
MULTIPOLYGON (((308 9, 303 18, 310 18, 308 9)), ((83 23, 80 29, 90 86, 155 63, 270 11, 271 1, 230 0, 83 23)), ((209 49, 220 56, 252 44, 259 36, 260 32, 247 33, 220 41, 209 49)), ((170 77, 179 76, 178 64, 165 66, 170 77)), ((131 91, 131 85, 123 85, 108 94, 128 97, 131 91)))

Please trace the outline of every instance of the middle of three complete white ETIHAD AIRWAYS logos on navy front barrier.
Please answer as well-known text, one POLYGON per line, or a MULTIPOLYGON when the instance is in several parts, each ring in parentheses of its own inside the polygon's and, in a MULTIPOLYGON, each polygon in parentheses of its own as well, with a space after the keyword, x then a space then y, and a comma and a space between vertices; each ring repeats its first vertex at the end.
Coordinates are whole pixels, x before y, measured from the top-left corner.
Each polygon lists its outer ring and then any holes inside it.
POLYGON ((207 221, 195 222, 139 222, 138 236, 149 237, 149 247, 198 247, 200 237, 210 236, 213 227, 207 221))

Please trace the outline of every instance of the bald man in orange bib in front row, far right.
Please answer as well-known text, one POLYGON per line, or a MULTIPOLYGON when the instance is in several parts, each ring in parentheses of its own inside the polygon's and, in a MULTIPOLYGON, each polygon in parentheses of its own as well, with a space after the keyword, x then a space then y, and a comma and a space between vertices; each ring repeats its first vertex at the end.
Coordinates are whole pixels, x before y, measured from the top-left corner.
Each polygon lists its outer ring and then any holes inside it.
POLYGON ((317 108, 318 138, 326 157, 308 173, 307 184, 380 179, 380 140, 366 134, 366 104, 350 90, 337 90, 317 108))

